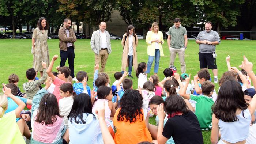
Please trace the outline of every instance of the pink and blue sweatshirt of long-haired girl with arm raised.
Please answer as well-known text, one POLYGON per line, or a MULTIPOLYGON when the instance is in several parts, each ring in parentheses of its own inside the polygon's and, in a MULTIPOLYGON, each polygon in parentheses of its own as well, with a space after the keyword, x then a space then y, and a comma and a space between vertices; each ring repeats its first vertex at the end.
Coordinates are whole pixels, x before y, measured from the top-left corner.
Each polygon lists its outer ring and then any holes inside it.
POLYGON ((62 144, 62 136, 67 130, 63 118, 57 115, 55 115, 57 119, 53 121, 53 124, 45 125, 45 123, 41 124, 34 121, 37 118, 40 101, 47 93, 48 91, 42 88, 32 100, 31 127, 33 131, 30 144, 62 144))

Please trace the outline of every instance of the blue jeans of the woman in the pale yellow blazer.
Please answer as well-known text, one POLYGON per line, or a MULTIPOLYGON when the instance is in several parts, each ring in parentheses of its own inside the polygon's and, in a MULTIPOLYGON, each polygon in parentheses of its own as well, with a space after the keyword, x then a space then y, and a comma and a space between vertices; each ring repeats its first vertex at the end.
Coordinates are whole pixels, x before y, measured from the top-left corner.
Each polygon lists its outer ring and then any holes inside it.
POLYGON ((147 62, 147 71, 146 73, 150 73, 150 69, 152 67, 153 60, 155 58, 155 67, 154 67, 154 73, 158 72, 159 68, 159 61, 160 61, 160 50, 155 50, 155 56, 148 56, 148 62, 147 62))

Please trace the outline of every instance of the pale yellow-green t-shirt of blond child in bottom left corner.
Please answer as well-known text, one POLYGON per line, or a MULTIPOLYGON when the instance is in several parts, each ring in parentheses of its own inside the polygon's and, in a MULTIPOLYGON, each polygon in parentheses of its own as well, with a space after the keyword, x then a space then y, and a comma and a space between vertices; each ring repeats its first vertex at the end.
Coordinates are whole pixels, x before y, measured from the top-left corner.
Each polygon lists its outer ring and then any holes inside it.
POLYGON ((25 144, 16 122, 15 110, 0 118, 0 143, 25 144))

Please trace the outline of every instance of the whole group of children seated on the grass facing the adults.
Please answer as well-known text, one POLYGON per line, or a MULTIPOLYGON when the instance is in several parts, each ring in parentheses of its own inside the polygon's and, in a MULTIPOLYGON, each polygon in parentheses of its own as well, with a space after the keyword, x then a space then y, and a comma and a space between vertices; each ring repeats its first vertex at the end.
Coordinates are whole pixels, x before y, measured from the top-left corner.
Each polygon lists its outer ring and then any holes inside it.
POLYGON ((74 84, 68 80, 68 67, 52 72, 57 58, 53 56, 48 68, 42 62, 43 76, 38 80, 33 68, 26 71, 24 94, 15 74, 3 84, 1 143, 25 143, 25 139, 31 144, 200 144, 202 130, 210 129, 212 143, 255 142, 256 92, 251 82, 256 85, 256 76, 245 57, 241 71, 231 67, 227 57, 229 71, 220 79, 218 95, 207 69, 191 80, 190 74, 180 76, 172 66, 160 81, 145 74, 144 62, 138 64, 136 90, 127 71, 116 72, 110 87, 109 76, 98 73, 98 64, 91 90, 85 71, 77 73, 74 84), (29 110, 23 110, 25 106, 29 110), (156 125, 149 124, 154 115, 156 125))

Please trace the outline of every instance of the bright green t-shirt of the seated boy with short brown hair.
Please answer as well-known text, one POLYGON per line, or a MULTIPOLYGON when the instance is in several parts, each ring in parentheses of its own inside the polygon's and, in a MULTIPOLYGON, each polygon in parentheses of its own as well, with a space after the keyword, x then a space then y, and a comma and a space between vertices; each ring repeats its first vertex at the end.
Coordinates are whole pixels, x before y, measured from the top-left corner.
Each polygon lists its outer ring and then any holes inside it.
POLYGON ((195 114, 200 124, 201 130, 209 130, 212 127, 212 110, 214 101, 204 95, 190 95, 190 99, 196 101, 195 114))

